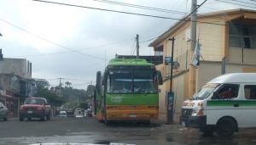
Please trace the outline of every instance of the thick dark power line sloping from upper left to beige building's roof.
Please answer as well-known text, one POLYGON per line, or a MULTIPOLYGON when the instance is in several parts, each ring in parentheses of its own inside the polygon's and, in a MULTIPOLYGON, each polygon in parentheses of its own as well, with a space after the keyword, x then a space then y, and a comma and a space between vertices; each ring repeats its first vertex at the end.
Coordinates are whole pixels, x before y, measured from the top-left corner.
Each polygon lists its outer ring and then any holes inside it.
MULTIPOLYGON (((74 4, 68 4, 68 3, 56 3, 56 2, 49 2, 49 1, 44 1, 44 0, 33 0, 33 1, 36 1, 36 2, 42 2, 42 3, 59 4, 59 5, 65 5, 65 6, 77 7, 77 8, 89 8, 89 9, 96 9, 96 10, 102 10, 102 11, 107 11, 107 12, 114 12, 114 13, 119 13, 119 14, 140 15, 140 16, 144 16, 144 17, 160 18, 160 19, 166 19, 166 20, 183 20, 183 19, 172 18, 172 17, 165 17, 165 16, 159 16, 159 15, 138 14, 138 13, 125 12, 125 11, 119 11, 119 10, 112 10, 112 9, 106 9, 106 8, 86 7, 86 6, 74 5, 74 4)), ((184 21, 190 21, 190 20, 184 20, 184 21)), ((211 23, 211 22, 205 22, 205 21, 195 21, 195 22, 198 22, 198 23, 204 23, 204 24, 211 24, 211 25, 223 25, 223 24, 211 23)))

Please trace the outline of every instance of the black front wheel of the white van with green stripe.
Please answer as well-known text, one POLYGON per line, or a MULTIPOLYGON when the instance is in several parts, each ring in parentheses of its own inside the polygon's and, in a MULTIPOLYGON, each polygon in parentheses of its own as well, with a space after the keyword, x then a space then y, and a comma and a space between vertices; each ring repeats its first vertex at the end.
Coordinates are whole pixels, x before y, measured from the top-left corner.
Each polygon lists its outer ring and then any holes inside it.
POLYGON ((218 120, 216 126, 216 132, 218 136, 229 137, 232 136, 236 131, 236 122, 231 118, 225 117, 223 119, 218 120))

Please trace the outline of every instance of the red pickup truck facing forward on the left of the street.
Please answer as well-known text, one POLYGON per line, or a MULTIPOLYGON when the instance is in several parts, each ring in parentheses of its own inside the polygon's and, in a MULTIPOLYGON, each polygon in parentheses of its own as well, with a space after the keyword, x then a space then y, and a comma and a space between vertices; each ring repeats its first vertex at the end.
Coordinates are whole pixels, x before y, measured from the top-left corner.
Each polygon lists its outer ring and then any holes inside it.
POLYGON ((50 120, 50 105, 46 98, 26 98, 23 105, 20 106, 20 121, 25 118, 39 118, 41 120, 50 120))

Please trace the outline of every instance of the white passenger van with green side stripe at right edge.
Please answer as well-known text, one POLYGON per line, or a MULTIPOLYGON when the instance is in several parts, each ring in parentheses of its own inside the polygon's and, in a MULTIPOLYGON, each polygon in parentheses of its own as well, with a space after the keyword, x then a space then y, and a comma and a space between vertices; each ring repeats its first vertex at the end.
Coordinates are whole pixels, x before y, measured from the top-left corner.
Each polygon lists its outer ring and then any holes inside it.
POLYGON ((220 75, 185 100, 181 125, 231 136, 240 128, 256 127, 256 73, 220 75))

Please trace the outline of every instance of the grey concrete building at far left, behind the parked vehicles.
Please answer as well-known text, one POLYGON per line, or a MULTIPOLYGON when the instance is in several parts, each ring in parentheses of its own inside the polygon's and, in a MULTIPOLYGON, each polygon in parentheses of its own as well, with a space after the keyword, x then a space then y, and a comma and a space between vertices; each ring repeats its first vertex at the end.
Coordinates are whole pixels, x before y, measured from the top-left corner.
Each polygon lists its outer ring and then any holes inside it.
POLYGON ((20 102, 33 96, 35 91, 32 63, 26 59, 3 58, 0 49, 0 102, 9 109, 9 116, 18 116, 20 102))

